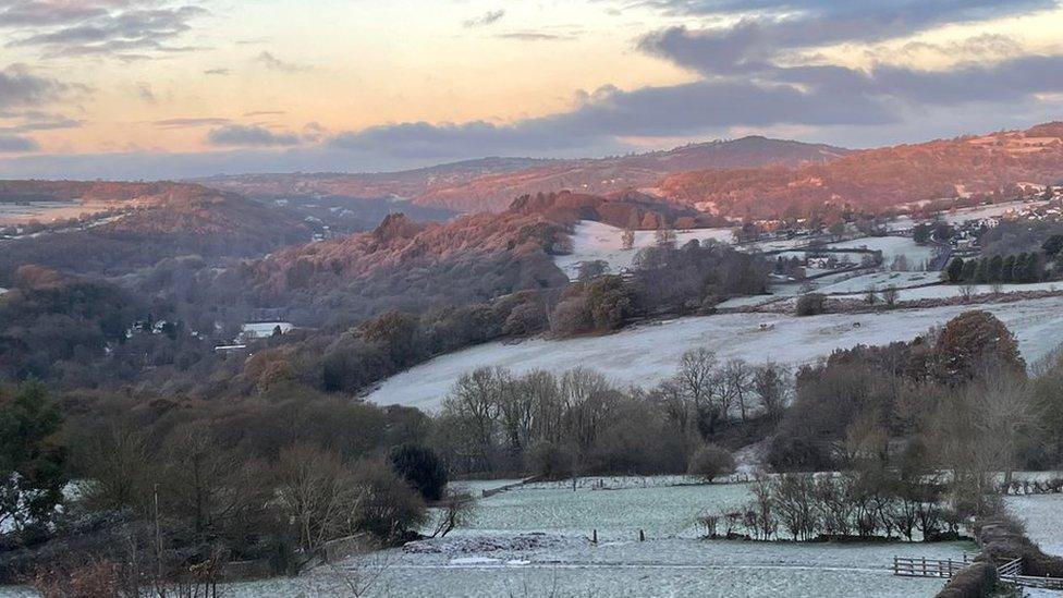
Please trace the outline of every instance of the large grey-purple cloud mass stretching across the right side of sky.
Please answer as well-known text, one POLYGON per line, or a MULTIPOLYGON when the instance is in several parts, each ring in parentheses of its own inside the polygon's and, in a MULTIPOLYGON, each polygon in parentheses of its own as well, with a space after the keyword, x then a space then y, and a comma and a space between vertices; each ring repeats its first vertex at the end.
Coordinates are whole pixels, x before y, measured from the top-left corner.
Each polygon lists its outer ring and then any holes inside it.
MULTIPOLYGON (((377 151, 426 161, 590 154, 640 137, 694 137, 735 129, 867 131, 899 125, 934 107, 1027 106, 1036 103, 1038 94, 1063 91, 1063 80, 1051 74, 1063 72, 1063 57, 1023 56, 1003 36, 979 36, 955 47, 997 61, 961 62, 939 72, 883 63, 856 70, 803 61, 801 56, 827 44, 878 41, 945 23, 1047 8, 1047 0, 1006 7, 989 0, 651 3, 688 15, 738 16, 728 26, 671 27, 638 40, 639 51, 693 71, 699 80, 634 90, 607 86, 583 94, 567 112, 513 123, 395 123, 341 132, 326 143, 359 155, 377 151)), ((545 39, 535 34, 514 38, 545 39)))

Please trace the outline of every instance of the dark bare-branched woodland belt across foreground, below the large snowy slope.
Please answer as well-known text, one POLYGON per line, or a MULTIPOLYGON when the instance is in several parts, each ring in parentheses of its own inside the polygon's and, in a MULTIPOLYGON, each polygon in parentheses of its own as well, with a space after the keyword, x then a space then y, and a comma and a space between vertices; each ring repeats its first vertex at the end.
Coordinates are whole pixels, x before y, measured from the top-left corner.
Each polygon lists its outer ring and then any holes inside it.
POLYGON ((0 517, 15 530, 0 545, 2 578, 109 563, 119 578, 154 583, 160 571, 172 581, 193 565, 266 558, 291 572, 351 533, 386 544, 445 534, 473 504, 444 490, 454 476, 711 480, 750 443, 793 475, 759 480, 749 510, 708 516, 707 535, 939 539, 993 509, 992 472, 1063 463, 1063 359, 1028 375, 1010 332, 983 312, 796 371, 693 350, 651 389, 615 388, 586 368, 479 369, 435 415, 259 365, 257 383, 225 400, 5 387, 0 459, 16 475, 0 488, 0 517), (954 476, 927 481, 942 469, 954 476), (819 471, 847 473, 801 474, 819 471), (64 498, 73 480, 77 498, 64 498), (442 505, 432 521, 427 503, 442 505), (797 508, 836 516, 802 518, 797 508))

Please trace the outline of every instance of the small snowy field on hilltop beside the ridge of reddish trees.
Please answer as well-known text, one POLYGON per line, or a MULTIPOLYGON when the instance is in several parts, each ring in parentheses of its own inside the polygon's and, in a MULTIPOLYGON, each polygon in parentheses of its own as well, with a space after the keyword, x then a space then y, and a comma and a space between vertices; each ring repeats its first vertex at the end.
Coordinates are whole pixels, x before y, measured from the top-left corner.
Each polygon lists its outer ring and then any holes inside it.
MULTIPOLYGON (((675 242, 683 245, 691 240, 707 240, 731 242, 734 229, 694 229, 691 231, 675 231, 675 242)), ((635 231, 635 244, 632 249, 624 249, 624 230, 595 222, 591 220, 581 220, 575 227, 572 235, 572 253, 554 258, 554 264, 561 268, 570 279, 575 279, 579 273, 579 264, 604 260, 609 264, 611 273, 620 273, 630 268, 635 260, 635 255, 643 247, 650 247, 657 241, 655 231, 635 231)))

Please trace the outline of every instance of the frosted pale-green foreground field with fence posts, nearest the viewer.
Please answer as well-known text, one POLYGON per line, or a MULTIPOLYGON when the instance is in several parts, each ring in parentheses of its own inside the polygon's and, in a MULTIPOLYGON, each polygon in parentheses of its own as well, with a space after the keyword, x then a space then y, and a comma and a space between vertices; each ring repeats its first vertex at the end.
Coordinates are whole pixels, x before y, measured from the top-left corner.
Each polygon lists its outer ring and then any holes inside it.
MULTIPOLYGON (((640 479, 640 478, 639 478, 640 479)), ((894 577, 894 556, 960 559, 967 542, 838 545, 697 539, 694 517, 748 500, 742 485, 594 490, 536 486, 484 499, 443 539, 229 596, 328 594, 376 575, 372 596, 933 596, 940 579, 894 577), (588 540, 598 530, 598 545, 588 540), (638 529, 646 541, 637 541, 638 529), (367 573, 368 572, 368 573, 367 573)))

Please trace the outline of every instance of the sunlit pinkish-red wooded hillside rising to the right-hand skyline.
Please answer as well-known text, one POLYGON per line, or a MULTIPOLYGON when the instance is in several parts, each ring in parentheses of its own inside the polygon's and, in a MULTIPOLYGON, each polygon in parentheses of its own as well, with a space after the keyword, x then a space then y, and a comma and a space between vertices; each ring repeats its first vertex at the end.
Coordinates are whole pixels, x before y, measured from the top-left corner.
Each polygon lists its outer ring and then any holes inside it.
POLYGON ((695 170, 660 193, 704 211, 774 218, 817 211, 881 211, 934 199, 973 199, 1023 183, 1063 179, 1063 123, 1026 131, 853 151, 821 164, 695 170))

